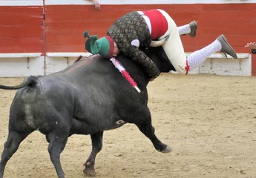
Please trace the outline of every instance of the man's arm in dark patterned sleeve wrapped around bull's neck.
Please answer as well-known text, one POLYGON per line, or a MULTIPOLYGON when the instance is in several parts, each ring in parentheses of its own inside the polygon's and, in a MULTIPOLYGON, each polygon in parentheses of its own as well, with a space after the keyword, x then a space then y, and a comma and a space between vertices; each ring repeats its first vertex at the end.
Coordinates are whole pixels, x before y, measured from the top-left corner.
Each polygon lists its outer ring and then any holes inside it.
POLYGON ((127 49, 128 56, 130 56, 134 62, 141 65, 151 79, 155 79, 160 75, 160 70, 158 70, 157 65, 142 50, 140 50, 139 47, 128 45, 127 49))

